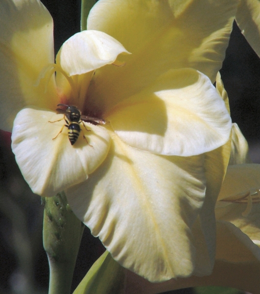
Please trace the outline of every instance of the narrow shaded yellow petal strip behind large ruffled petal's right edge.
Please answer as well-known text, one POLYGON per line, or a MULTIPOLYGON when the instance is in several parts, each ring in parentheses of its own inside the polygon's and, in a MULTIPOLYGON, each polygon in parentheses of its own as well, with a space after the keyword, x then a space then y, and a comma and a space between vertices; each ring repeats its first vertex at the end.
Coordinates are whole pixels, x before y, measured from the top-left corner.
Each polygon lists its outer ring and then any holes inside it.
POLYGON ((215 262, 215 218, 214 209, 229 161, 231 140, 224 146, 205 154, 206 196, 198 220, 192 227, 196 246, 194 275, 210 274, 215 262), (204 241, 205 240, 205 241, 204 241), (206 272, 206 270, 208 272, 206 272))

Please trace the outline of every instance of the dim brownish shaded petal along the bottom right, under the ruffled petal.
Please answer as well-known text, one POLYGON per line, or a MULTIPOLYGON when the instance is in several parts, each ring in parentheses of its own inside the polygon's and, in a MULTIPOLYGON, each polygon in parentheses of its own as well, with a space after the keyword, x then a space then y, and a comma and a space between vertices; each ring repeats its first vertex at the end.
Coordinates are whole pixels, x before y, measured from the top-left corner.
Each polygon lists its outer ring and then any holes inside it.
POLYGON ((159 294, 198 286, 232 287, 260 294, 260 249, 231 223, 217 222, 217 253, 219 259, 215 261, 212 274, 203 277, 193 275, 151 283, 126 270, 125 294, 159 294))

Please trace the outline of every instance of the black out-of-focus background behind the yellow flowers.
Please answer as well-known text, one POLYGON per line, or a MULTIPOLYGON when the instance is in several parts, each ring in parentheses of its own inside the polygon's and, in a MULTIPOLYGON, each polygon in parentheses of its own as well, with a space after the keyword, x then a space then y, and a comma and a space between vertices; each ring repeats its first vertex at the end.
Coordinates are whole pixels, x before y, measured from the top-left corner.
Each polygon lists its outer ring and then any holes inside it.
MULTIPOLYGON (((42 0, 54 20, 55 52, 80 31, 80 0, 42 0)), ((260 163, 260 59, 236 24, 221 69, 233 122, 260 163)), ((46 294, 48 264, 42 245, 43 207, 16 166, 10 134, 0 133, 0 294, 46 294)), ((102 253, 102 245, 85 228, 72 290, 102 253)), ((176 292, 177 293, 177 292, 176 292)), ((181 290, 179 294, 192 293, 181 290)))

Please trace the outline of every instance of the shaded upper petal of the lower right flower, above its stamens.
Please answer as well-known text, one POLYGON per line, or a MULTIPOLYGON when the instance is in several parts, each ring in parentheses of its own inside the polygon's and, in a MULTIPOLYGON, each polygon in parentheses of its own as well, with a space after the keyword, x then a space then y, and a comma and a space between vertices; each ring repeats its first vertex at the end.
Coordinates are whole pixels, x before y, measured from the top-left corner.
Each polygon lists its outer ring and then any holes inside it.
POLYGON ((227 169, 218 200, 239 200, 260 189, 260 165, 239 164, 227 169))

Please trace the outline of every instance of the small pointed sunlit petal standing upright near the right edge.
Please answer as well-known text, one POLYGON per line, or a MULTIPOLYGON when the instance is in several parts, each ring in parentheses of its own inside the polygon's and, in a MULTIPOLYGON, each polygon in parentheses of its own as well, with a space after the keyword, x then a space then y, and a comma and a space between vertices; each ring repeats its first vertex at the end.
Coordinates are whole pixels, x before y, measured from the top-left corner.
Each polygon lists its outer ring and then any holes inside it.
POLYGON ((250 163, 248 144, 236 123, 232 124, 232 143, 229 165, 250 163))

